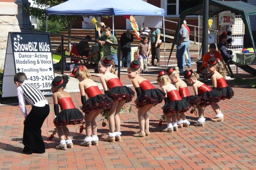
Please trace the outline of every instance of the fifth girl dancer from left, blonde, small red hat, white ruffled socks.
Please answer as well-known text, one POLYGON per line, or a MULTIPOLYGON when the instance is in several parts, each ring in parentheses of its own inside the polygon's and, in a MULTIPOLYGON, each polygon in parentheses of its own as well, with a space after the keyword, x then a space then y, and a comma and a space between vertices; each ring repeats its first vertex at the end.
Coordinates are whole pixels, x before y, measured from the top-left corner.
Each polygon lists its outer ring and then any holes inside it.
MULTIPOLYGON (((165 71, 160 71, 158 73, 157 83, 162 88, 162 91, 166 93, 165 105, 162 107, 163 114, 166 118, 167 128, 164 129, 164 132, 173 132, 177 131, 177 116, 180 119, 180 115, 182 114, 185 117, 184 112, 189 110, 189 103, 182 99, 177 88, 170 83, 168 75, 166 75, 165 71), (172 121, 171 121, 172 118, 172 121)), ((185 117, 185 123, 186 117, 185 117)))

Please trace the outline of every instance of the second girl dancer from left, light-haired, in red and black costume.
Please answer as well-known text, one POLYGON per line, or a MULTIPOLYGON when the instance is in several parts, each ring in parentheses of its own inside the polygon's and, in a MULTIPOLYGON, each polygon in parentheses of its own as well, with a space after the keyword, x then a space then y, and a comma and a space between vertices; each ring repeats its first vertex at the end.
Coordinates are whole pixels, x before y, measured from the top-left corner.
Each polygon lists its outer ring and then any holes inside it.
POLYGON ((84 111, 86 137, 81 146, 90 147, 98 145, 99 138, 97 136, 97 124, 95 122, 96 117, 102 112, 110 111, 113 107, 113 100, 102 94, 91 78, 90 72, 86 67, 80 65, 73 69, 72 74, 79 80, 79 89, 81 94, 82 110, 84 111), (85 94, 88 99, 86 100, 85 94), (91 136, 92 134, 92 136, 91 136))

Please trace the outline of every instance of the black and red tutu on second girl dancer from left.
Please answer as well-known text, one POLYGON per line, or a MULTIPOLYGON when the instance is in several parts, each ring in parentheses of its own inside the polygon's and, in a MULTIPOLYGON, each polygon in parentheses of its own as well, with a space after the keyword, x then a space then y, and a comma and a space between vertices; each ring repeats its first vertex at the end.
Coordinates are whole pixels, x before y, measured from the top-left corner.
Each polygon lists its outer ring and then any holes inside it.
POLYGON ((90 113, 91 111, 99 111, 104 109, 105 111, 110 111, 113 107, 113 100, 103 94, 98 94, 94 97, 91 97, 86 100, 84 106, 82 106, 82 111, 85 114, 90 113))

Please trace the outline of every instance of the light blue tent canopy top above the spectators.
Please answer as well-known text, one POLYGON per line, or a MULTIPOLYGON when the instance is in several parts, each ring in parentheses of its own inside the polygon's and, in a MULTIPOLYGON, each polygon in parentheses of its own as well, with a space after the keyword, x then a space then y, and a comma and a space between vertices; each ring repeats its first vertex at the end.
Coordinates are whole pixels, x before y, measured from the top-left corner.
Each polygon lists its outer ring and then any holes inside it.
POLYGON ((143 0, 68 0, 47 8, 54 15, 146 15, 164 16, 164 9, 143 0))

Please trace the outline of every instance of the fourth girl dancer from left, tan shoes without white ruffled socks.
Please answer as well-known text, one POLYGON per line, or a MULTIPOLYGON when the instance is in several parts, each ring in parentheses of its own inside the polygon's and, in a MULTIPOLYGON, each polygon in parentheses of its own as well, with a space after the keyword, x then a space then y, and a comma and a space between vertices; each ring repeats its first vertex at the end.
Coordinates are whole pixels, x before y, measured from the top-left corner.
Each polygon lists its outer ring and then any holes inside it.
POLYGON ((144 137, 149 136, 149 118, 147 112, 164 99, 165 93, 158 88, 155 88, 148 80, 140 77, 140 65, 137 60, 131 62, 127 69, 128 78, 132 79, 132 84, 137 92, 137 99, 135 100, 138 108, 138 119, 140 124, 140 131, 133 136, 144 137))

